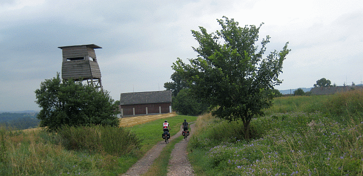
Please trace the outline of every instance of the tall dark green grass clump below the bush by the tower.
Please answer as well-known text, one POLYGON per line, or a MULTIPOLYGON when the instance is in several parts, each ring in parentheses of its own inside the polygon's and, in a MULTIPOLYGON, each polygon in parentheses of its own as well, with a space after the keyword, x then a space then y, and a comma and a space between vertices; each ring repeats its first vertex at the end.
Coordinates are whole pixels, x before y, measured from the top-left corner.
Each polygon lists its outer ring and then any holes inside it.
POLYGON ((63 126, 54 135, 54 142, 61 143, 67 149, 105 152, 117 156, 137 151, 141 142, 135 133, 123 127, 100 125, 63 126))

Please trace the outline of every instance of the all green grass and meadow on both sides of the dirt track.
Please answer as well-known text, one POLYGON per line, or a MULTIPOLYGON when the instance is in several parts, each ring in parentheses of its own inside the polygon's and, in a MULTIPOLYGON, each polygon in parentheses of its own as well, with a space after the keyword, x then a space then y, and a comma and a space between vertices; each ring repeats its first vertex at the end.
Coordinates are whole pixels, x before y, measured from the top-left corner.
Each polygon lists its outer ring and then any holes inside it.
MULTIPOLYGON (((167 120, 172 135, 184 119, 197 121, 188 149, 196 175, 363 175, 363 92, 276 98, 274 103, 265 116, 251 122, 249 143, 239 121, 209 114, 167 120)), ((164 120, 117 130, 70 128, 57 134, 0 128, 0 175, 124 173, 163 140, 164 120), (112 148, 112 141, 127 145, 112 148)), ((170 153, 170 144, 165 153, 170 153)), ((148 174, 165 175, 157 168, 166 168, 167 160, 158 158, 148 174)))

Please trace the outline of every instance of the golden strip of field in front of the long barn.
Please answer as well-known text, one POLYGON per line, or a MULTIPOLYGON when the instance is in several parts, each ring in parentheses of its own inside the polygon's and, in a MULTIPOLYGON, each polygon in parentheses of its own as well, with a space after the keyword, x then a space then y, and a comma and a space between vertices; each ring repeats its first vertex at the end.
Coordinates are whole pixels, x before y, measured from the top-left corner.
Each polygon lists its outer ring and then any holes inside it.
POLYGON ((120 118, 119 120, 120 120, 120 127, 131 127, 134 125, 143 124, 156 119, 163 119, 172 116, 176 116, 176 114, 168 113, 168 114, 156 114, 156 115, 147 115, 147 116, 124 117, 120 118))

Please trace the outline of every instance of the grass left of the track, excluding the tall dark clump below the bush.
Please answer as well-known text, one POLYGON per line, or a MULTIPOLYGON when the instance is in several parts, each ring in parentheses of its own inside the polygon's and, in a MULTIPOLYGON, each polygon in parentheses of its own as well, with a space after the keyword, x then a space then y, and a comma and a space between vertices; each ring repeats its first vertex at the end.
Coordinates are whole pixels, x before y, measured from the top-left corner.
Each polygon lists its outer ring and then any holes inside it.
MULTIPOLYGON (((173 130, 179 131, 184 119, 197 117, 174 116, 167 120, 173 130)), ((0 128, 0 175, 117 175, 124 173, 154 144, 162 140, 162 122, 155 120, 129 127, 142 139, 142 147, 134 154, 113 156, 103 152, 70 151, 49 142, 45 132, 7 131, 0 128)))

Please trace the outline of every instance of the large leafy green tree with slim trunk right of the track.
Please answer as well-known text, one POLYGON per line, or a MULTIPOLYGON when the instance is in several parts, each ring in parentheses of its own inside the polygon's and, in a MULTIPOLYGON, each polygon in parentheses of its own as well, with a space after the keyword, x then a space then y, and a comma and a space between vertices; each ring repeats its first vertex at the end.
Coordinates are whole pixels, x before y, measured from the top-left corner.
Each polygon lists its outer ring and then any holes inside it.
POLYGON ((187 80, 195 96, 210 103, 213 115, 241 120, 249 141, 250 122, 272 105, 271 90, 282 82, 278 75, 290 50, 286 43, 280 52, 264 56, 270 37, 262 39, 260 49, 255 45, 262 24, 239 27, 227 17, 217 21, 222 29, 215 33, 203 27, 200 32, 192 30, 199 42, 199 47, 193 47, 198 58, 189 59, 190 64, 177 59, 172 67, 187 80))

